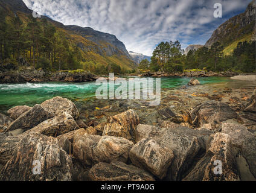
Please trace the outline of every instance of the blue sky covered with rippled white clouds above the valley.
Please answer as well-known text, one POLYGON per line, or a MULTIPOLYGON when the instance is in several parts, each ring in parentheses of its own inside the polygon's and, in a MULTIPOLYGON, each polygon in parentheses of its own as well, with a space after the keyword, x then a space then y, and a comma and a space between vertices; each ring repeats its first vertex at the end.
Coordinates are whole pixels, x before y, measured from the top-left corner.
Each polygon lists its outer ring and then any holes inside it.
POLYGON ((220 24, 243 13, 251 0, 23 0, 28 8, 64 25, 114 34, 128 51, 152 55, 162 41, 201 44, 220 24), (214 4, 222 17, 214 17, 214 4))

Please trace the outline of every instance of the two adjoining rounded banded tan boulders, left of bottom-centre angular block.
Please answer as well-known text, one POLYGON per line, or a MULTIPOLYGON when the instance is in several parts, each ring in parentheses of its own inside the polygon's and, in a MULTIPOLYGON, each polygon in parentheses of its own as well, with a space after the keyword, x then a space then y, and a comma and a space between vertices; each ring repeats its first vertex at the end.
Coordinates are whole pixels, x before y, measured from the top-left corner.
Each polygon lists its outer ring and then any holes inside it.
POLYGON ((82 134, 75 138, 73 154, 85 166, 98 162, 121 161, 126 163, 133 142, 115 136, 82 134))

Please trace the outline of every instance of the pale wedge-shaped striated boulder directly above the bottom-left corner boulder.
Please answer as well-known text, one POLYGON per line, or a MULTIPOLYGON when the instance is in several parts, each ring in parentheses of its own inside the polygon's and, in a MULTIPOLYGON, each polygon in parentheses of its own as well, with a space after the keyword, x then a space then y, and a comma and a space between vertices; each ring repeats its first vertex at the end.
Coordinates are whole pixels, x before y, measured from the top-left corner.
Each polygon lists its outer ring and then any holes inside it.
POLYGON ((36 125, 36 127, 31 128, 25 133, 38 132, 55 138, 61 134, 68 133, 69 131, 76 130, 78 128, 79 127, 74 118, 72 118, 72 116, 67 112, 64 112, 62 115, 54 116, 54 118, 41 122, 39 125, 36 125))

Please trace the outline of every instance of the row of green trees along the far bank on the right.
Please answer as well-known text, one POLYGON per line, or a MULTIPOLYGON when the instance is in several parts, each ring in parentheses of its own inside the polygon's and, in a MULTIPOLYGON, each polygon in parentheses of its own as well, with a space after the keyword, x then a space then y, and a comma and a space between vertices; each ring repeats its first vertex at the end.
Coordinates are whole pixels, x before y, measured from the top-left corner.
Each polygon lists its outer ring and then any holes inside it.
POLYGON ((161 42, 154 49, 151 62, 142 60, 138 68, 155 72, 183 72, 191 69, 256 72, 255 41, 239 42, 229 55, 225 55, 223 49, 220 42, 215 42, 211 48, 203 46, 185 55, 179 41, 161 42))

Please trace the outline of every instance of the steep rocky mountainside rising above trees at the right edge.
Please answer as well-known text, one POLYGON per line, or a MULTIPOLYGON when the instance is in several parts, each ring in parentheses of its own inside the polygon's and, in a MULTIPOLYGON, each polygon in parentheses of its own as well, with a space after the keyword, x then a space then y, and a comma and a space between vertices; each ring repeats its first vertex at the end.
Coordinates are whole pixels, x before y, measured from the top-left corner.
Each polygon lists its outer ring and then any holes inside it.
POLYGON ((220 25, 211 38, 205 43, 210 48, 214 42, 221 42, 225 54, 229 54, 238 42, 255 40, 255 0, 252 1, 244 13, 231 17, 220 25))

